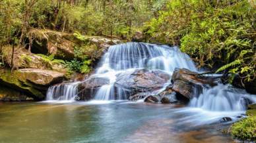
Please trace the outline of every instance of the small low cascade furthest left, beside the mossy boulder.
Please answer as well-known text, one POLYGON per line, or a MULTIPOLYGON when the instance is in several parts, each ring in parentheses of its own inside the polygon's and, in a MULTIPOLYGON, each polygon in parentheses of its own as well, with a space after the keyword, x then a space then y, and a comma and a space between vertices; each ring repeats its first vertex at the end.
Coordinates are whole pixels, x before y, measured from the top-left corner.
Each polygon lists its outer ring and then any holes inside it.
POLYGON ((76 83, 63 83, 49 87, 46 100, 74 100, 78 94, 76 83))

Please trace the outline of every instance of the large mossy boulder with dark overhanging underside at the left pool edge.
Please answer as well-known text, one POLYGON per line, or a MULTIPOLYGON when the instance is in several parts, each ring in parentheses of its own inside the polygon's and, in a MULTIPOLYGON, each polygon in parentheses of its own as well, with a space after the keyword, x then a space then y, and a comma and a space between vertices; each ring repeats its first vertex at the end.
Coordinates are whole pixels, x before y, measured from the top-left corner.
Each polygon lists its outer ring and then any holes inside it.
POLYGON ((32 68, 0 74, 1 86, 9 87, 35 100, 44 100, 48 87, 63 79, 65 79, 63 73, 32 68))

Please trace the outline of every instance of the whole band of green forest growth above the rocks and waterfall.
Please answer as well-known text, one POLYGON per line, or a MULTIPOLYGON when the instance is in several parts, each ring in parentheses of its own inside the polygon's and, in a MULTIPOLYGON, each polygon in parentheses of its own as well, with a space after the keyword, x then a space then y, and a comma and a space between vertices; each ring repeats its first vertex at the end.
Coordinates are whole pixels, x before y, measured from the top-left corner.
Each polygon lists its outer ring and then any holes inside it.
POLYGON ((255 78, 255 1, 6 0, 0 4, 0 47, 28 47, 25 38, 31 28, 125 39, 143 30, 149 41, 180 45, 199 67, 222 66, 217 72, 239 73, 245 82, 255 78))

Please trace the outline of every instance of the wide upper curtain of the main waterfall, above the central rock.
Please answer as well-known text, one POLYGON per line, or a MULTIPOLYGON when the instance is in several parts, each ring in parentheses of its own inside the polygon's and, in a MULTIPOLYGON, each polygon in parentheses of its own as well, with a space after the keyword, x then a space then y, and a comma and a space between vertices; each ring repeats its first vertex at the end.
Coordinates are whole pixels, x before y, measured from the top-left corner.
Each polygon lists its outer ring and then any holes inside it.
POLYGON ((148 43, 113 45, 103 56, 96 73, 125 71, 135 68, 174 72, 175 68, 197 71, 191 58, 177 47, 148 43))

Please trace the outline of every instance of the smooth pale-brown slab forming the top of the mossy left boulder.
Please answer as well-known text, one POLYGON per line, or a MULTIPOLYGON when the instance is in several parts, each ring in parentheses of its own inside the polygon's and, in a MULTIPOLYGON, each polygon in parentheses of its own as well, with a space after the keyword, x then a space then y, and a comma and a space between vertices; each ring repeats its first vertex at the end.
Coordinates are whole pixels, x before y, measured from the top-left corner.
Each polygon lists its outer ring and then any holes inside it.
POLYGON ((65 79, 63 73, 33 68, 16 70, 16 75, 20 81, 27 80, 36 85, 52 85, 65 79))

